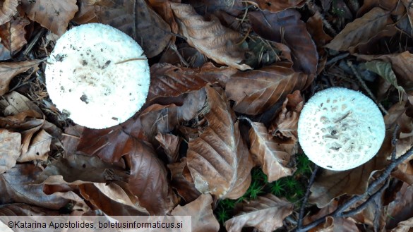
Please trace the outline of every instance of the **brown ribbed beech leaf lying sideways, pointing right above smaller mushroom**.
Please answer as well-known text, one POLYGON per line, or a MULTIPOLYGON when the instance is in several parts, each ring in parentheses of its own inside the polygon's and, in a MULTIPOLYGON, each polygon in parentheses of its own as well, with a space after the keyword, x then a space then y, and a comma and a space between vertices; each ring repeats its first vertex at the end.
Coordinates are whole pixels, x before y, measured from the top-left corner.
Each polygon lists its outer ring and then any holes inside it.
POLYGON ((294 90, 303 90, 313 75, 295 73, 287 63, 239 72, 228 80, 225 91, 241 114, 261 114, 294 90))

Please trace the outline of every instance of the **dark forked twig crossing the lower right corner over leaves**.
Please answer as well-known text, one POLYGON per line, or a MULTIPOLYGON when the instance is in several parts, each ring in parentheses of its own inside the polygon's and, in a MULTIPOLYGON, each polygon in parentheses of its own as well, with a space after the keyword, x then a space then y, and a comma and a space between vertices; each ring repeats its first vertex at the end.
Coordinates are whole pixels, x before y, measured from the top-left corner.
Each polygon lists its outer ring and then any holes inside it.
POLYGON ((359 212, 362 209, 364 209, 367 204, 369 202, 371 202, 371 200, 376 197, 377 195, 379 195, 381 193, 381 191, 383 191, 386 188, 386 184, 383 184, 381 186, 381 188, 379 188, 378 190, 376 190, 376 188, 378 188, 378 185, 380 185, 381 183, 383 183, 384 181, 386 181, 389 176, 390 173, 393 171, 393 169, 395 169, 395 167, 399 164, 402 163, 402 161, 405 161, 408 157, 410 157, 413 154, 413 147, 410 147, 410 149, 405 153, 402 154, 401 157, 395 159, 393 162, 391 162, 383 171, 383 173, 381 173, 380 176, 378 176, 378 178, 376 180, 374 180, 369 187, 367 188, 366 192, 362 195, 355 195, 352 198, 350 198, 350 200, 348 200, 347 202, 345 202, 345 204, 340 205, 339 207, 337 207, 337 209, 335 209, 334 212, 327 214, 323 217, 321 217, 320 219, 317 219, 316 221, 311 222, 310 224, 305 225, 304 227, 299 227, 297 226, 297 228, 294 230, 296 232, 304 232, 304 231, 309 231, 311 228, 314 228, 316 226, 318 226, 318 224, 321 224, 323 222, 325 222, 325 220, 327 219, 328 216, 333 216, 333 218, 339 218, 339 217, 345 217, 345 216, 351 216, 354 215, 354 212, 359 212), (376 191, 375 191, 376 190, 376 191), (367 197, 368 195, 370 195, 370 197, 363 203, 360 204, 357 208, 352 209, 348 212, 345 212, 345 210, 349 209, 349 207, 351 207, 353 204, 355 204, 356 202, 359 202, 360 200, 363 200, 364 197, 367 197))

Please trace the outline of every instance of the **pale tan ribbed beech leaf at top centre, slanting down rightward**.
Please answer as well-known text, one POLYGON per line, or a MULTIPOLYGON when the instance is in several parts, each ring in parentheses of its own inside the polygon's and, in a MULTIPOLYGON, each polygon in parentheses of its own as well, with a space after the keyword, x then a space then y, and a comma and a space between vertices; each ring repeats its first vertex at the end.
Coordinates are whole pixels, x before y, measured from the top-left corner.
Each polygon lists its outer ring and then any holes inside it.
POLYGON ((244 53, 237 45, 242 40, 241 34, 223 27, 215 16, 210 21, 205 20, 191 5, 171 3, 171 6, 179 32, 186 37, 188 44, 217 63, 240 70, 251 69, 241 64, 244 53))

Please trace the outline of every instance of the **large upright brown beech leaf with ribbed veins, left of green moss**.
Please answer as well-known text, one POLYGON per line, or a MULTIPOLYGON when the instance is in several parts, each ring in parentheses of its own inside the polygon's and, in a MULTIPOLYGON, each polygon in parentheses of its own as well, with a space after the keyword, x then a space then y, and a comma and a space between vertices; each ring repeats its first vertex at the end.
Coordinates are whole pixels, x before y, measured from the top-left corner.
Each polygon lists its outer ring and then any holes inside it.
POLYGON ((206 87, 206 92, 208 126, 199 138, 188 142, 188 169, 200 193, 237 199, 251 182, 252 160, 225 93, 212 87, 206 87))

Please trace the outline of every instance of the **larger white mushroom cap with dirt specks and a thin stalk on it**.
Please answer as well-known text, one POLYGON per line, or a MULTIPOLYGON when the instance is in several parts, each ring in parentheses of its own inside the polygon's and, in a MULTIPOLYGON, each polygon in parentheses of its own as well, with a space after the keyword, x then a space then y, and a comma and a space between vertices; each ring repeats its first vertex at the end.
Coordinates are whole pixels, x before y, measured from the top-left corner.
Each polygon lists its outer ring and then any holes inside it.
POLYGON ((81 126, 101 129, 123 123, 148 95, 150 72, 143 49, 109 25, 89 23, 68 30, 47 62, 50 99, 81 126))

